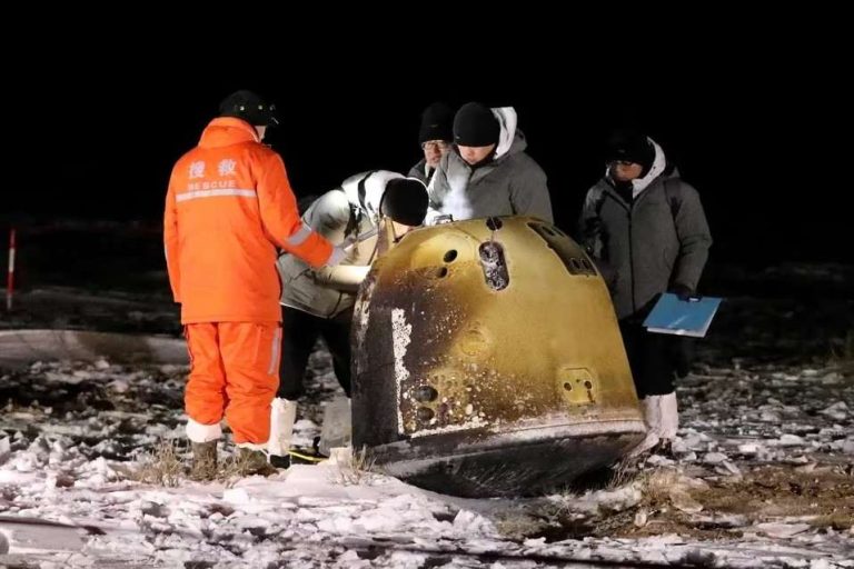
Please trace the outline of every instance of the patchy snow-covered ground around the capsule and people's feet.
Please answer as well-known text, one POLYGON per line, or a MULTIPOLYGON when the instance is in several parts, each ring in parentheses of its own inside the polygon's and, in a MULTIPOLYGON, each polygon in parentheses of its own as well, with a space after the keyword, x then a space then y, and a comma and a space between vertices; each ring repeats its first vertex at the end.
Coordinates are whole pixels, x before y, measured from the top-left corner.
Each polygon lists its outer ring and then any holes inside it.
MULTIPOLYGON (((447 497, 329 462, 155 483, 169 449, 187 459, 185 368, 0 370, 0 565, 854 567, 851 295, 727 303, 679 382, 673 460, 524 500, 447 497)), ((310 368, 301 445, 337 392, 324 350, 310 368)))

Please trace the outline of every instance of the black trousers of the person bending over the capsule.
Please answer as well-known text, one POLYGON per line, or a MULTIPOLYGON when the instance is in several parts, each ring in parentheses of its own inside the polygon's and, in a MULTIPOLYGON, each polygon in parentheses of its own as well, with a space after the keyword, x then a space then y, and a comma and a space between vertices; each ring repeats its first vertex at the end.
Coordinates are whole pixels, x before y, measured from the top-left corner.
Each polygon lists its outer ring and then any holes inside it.
POLYGON ((350 397, 350 323, 352 309, 335 318, 320 318, 295 308, 281 309, 281 363, 277 397, 295 401, 305 393, 302 379, 311 350, 322 338, 332 355, 335 377, 350 397))

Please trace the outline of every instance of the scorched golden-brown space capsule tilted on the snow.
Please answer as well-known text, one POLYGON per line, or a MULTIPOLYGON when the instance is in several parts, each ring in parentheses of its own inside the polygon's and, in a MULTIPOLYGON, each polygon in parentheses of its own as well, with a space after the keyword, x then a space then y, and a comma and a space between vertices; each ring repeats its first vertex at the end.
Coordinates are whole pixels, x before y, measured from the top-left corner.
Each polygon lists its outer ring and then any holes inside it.
POLYGON ((607 287, 550 223, 407 233, 363 283, 352 335, 354 449, 416 486, 543 493, 645 433, 607 287))

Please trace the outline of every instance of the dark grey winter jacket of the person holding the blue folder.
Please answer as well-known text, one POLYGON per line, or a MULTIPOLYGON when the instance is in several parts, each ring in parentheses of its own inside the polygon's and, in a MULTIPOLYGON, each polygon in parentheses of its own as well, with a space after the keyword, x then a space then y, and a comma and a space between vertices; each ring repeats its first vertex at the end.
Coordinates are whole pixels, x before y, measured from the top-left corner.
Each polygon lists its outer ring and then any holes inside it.
POLYGON ((675 169, 668 171, 661 147, 649 140, 655 160, 633 181, 633 203, 617 193, 608 172, 587 192, 582 211, 582 241, 615 273, 619 319, 647 308, 673 284, 696 290, 712 246, 699 194, 675 169))

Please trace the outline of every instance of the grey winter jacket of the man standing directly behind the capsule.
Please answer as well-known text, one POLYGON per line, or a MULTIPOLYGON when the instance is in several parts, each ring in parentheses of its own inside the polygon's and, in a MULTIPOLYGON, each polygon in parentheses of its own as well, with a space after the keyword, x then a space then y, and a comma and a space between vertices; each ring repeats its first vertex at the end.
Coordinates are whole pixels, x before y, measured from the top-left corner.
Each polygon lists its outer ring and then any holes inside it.
POLYGON ((554 221, 546 173, 525 153, 528 144, 516 128, 516 111, 512 107, 491 110, 502 129, 495 158, 473 170, 456 148, 441 157, 427 187, 428 221, 438 214, 451 214, 457 221, 490 216, 554 221))

